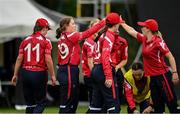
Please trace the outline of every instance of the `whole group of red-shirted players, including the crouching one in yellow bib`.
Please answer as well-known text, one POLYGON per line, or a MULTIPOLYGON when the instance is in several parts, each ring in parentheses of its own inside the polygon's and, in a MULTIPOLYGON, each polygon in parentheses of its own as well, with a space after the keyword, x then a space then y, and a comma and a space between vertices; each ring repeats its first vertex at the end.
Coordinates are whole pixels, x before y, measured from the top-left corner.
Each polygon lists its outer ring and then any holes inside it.
POLYGON ((56 80, 59 82, 59 113, 75 113, 81 61, 82 76, 89 92, 86 113, 120 113, 123 96, 128 113, 163 113, 165 104, 170 113, 180 112, 174 91, 174 85, 179 83, 176 62, 159 32, 158 23, 148 19, 138 25, 142 33, 127 25, 117 13, 109 13, 102 20, 92 20, 87 30, 77 32, 72 17, 61 19, 56 30, 59 41, 55 76, 52 45, 45 37, 51 28, 46 19, 39 18, 33 34, 19 47, 12 78, 12 84, 16 85, 21 71, 26 113, 42 113, 46 106, 47 70, 52 85, 56 85, 56 80), (128 60, 128 43, 119 35, 120 26, 142 44, 143 63, 133 63, 125 74, 121 69, 128 60), (83 40, 81 49, 79 41, 83 40))

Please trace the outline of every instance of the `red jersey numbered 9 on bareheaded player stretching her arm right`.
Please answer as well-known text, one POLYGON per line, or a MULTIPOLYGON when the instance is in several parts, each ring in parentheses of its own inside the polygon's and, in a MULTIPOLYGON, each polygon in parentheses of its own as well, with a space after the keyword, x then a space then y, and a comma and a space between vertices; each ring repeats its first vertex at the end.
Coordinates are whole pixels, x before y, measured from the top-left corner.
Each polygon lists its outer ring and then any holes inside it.
POLYGON ((102 20, 98 24, 89 28, 84 32, 64 32, 61 34, 58 42, 58 64, 80 64, 80 45, 78 41, 90 37, 101 29, 105 25, 105 21, 102 20))

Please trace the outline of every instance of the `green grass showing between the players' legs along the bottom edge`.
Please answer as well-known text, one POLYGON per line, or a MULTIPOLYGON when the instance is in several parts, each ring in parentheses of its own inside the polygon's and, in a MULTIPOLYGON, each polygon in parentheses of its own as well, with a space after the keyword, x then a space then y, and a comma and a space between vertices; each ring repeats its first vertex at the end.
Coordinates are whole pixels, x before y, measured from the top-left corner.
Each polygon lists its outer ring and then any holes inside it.
MULTIPOLYGON (((127 106, 126 105, 122 105, 121 106, 121 113, 127 113, 126 110, 127 106)), ((77 113, 85 113, 88 109, 88 106, 79 106, 77 109, 77 113)), ((58 107, 46 107, 46 109, 44 110, 44 114, 45 113, 58 113, 59 109, 58 107)), ((0 108, 0 114, 5 114, 5 113, 24 113, 24 110, 18 111, 15 110, 14 108, 0 108)), ((168 109, 166 107, 166 113, 168 113, 168 109)))

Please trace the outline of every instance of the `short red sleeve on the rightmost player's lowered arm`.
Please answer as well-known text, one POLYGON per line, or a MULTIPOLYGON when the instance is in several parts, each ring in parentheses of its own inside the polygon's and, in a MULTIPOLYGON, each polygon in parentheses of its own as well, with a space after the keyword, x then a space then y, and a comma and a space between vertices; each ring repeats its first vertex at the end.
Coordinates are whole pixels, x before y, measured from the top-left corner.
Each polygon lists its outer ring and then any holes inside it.
POLYGON ((158 48, 163 55, 169 52, 169 48, 167 47, 163 39, 158 41, 158 48))

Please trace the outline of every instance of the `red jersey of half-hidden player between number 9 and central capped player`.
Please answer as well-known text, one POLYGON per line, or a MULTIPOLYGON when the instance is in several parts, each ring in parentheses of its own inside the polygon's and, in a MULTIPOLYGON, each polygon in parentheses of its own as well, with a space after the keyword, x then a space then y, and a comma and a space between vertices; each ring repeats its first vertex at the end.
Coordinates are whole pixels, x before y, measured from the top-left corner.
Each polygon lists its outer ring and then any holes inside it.
MULTIPOLYGON (((92 36, 93 37, 93 36, 92 36)), ((88 65, 88 58, 93 57, 94 50, 94 40, 93 38, 88 38, 82 47, 82 74, 83 76, 90 76, 90 68, 88 65)))

